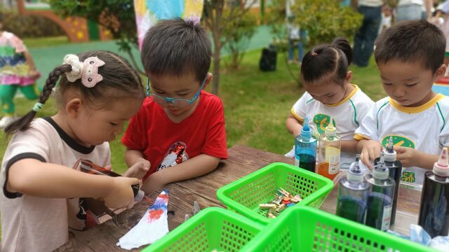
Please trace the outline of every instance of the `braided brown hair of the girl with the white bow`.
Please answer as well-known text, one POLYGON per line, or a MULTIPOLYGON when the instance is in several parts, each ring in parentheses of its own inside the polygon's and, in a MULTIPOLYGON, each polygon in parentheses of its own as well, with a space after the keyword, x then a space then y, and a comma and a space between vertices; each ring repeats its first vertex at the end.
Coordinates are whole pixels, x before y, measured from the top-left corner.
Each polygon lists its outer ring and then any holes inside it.
MULTIPOLYGON (((110 102, 123 98, 140 99, 143 101, 145 92, 142 86, 142 80, 139 74, 123 57, 116 55, 114 52, 108 51, 92 51, 81 53, 78 55, 79 61, 83 62, 88 57, 98 57, 105 65, 98 67, 98 73, 102 76, 102 80, 94 87, 86 87, 81 83, 81 79, 74 82, 67 80, 65 73, 72 71, 72 66, 63 64, 58 66, 48 75, 42 93, 39 97, 39 103, 45 104, 52 93, 53 87, 59 81, 55 90, 55 99, 58 104, 65 103, 64 94, 67 90, 79 90, 83 102, 95 109, 104 109, 110 102)), ((29 111, 22 118, 15 120, 6 127, 6 134, 14 134, 18 131, 25 131, 36 116, 36 111, 29 111)))

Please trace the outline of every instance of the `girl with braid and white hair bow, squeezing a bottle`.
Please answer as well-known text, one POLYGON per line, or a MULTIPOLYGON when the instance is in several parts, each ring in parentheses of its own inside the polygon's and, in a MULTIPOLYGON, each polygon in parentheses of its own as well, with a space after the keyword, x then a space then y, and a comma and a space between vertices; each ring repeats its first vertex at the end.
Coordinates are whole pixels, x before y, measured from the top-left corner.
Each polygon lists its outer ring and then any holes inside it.
POLYGON ((133 206, 138 179, 93 176, 72 169, 77 159, 110 165, 109 144, 145 97, 138 73, 107 51, 67 55, 48 76, 27 115, 6 127, 13 135, 1 164, 1 251, 53 251, 84 230, 80 197, 107 207, 133 206), (59 85, 57 85, 59 81, 59 85), (34 119, 53 87, 59 110, 34 119))

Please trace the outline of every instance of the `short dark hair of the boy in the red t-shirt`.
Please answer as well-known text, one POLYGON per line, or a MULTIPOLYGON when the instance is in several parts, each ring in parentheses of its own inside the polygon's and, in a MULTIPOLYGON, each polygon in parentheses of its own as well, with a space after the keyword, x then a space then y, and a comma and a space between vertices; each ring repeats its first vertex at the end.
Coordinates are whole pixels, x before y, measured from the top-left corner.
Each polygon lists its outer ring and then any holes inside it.
POLYGON ((162 20, 151 27, 142 43, 142 64, 154 76, 181 77, 193 73, 203 81, 212 50, 206 30, 194 20, 162 20))

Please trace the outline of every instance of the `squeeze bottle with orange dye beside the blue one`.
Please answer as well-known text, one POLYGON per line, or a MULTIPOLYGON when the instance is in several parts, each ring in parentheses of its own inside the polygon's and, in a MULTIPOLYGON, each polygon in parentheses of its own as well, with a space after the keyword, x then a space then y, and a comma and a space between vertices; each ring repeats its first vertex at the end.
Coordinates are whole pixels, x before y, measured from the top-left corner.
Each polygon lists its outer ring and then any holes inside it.
POLYGON ((324 134, 320 136, 318 174, 328 179, 334 179, 337 176, 340 172, 340 149, 340 136, 337 135, 337 129, 330 118, 324 134))

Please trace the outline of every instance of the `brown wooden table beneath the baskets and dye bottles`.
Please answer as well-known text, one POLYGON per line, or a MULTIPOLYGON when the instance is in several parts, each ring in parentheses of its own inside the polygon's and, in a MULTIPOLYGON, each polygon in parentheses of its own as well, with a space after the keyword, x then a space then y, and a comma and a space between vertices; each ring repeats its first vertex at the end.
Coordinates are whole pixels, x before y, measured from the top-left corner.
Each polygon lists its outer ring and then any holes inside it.
MULTIPOLYGON (((225 207, 217 200, 217 189, 240 179, 241 177, 255 172, 272 162, 286 162, 293 164, 293 160, 283 155, 260 151, 247 146, 233 146, 229 148, 229 159, 220 162, 215 171, 205 176, 188 181, 173 183, 167 186, 169 201, 168 210, 175 214, 168 215, 168 228, 173 230, 184 222, 185 214, 192 216, 193 202, 199 202, 201 209, 206 207, 225 207)), ((149 195, 153 200, 158 193, 149 195)), ((398 209, 396 211, 396 224, 394 230, 408 235, 410 223, 417 223, 417 214, 420 207, 421 193, 415 190, 401 188, 399 190, 398 209)), ((323 211, 335 214, 337 202, 337 190, 330 193, 327 200, 321 206, 323 211)), ((117 227, 112 221, 106 221, 91 230, 81 232, 67 244, 61 246, 56 251, 125 251, 118 246, 123 235, 138 223, 147 208, 151 205, 149 202, 141 202, 135 205, 133 209, 123 211, 119 214, 117 227)), ((142 246, 145 248, 145 246, 142 246)), ((142 249, 141 248, 141 249, 142 249)), ((133 251, 140 251, 135 249, 133 251)))

